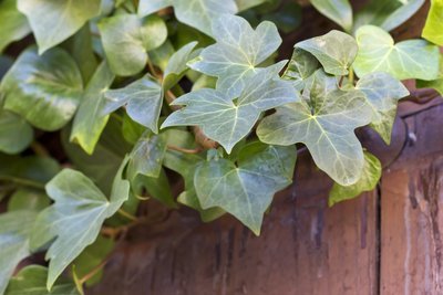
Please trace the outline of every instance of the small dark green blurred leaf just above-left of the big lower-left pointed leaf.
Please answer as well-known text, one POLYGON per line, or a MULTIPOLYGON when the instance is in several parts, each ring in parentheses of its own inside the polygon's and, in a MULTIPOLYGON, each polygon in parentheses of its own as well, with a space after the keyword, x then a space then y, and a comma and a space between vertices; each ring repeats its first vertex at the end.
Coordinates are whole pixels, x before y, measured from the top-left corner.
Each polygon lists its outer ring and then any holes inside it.
POLYGON ((37 190, 19 189, 8 201, 8 211, 29 210, 39 212, 50 206, 48 196, 37 190))

